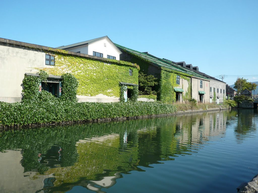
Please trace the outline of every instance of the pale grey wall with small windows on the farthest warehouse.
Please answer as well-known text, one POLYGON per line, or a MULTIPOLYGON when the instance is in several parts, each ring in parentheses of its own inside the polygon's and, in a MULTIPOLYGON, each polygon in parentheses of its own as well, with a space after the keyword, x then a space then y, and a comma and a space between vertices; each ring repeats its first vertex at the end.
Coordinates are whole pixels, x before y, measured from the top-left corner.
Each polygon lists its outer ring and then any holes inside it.
POLYGON ((223 98, 224 97, 226 98, 226 83, 211 80, 210 87, 212 87, 212 92, 209 91, 210 96, 212 96, 212 101, 214 97, 214 87, 215 87, 216 102, 217 102, 217 99, 219 99, 219 103, 223 103, 223 98), (219 93, 217 92, 217 89, 219 89, 219 93), (220 93, 220 89, 222 89, 222 93, 220 93))

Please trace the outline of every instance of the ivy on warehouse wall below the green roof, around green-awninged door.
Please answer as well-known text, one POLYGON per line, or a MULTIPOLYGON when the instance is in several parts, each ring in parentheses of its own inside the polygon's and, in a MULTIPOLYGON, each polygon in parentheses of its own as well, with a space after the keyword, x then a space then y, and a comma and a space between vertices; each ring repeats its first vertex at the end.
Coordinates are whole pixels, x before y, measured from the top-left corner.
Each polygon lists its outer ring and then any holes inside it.
MULTIPOLYGON (((188 82, 187 91, 185 93, 183 92, 183 96, 182 96, 183 100, 187 100, 191 97, 190 76, 185 73, 162 68, 160 73, 157 100, 162 102, 169 102, 169 103, 176 101, 176 93, 174 91, 174 87, 179 86, 178 84, 176 84, 176 75, 180 75, 180 81, 183 79, 188 82)), ((182 89, 183 88, 184 88, 184 85, 182 84, 182 89)))

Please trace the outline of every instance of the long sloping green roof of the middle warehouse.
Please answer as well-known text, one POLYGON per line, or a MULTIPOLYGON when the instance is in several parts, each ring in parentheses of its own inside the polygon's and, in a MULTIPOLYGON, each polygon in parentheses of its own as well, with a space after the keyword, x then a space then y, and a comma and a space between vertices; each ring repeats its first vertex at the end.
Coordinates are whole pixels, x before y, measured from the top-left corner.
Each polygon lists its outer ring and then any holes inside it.
POLYGON ((179 72, 182 72, 182 73, 186 73, 186 74, 189 74, 190 76, 194 76, 194 77, 198 77, 198 78, 201 78, 201 79, 206 79, 206 80, 209 80, 208 78, 200 75, 200 74, 197 74, 191 70, 188 70, 178 64, 175 64, 173 62, 168 62, 167 60, 164 60, 164 59, 161 59, 161 58, 158 58, 158 57, 155 57, 153 55, 150 55, 148 53, 143 53, 143 52, 139 52, 139 51, 136 51, 136 50, 132 50, 130 48, 126 48, 124 46, 120 46, 116 43, 114 43, 118 48, 121 48, 129 53, 132 53, 132 54, 135 54, 137 56, 140 56, 146 60, 148 60, 149 62, 151 62, 152 64, 158 66, 158 67, 164 67, 164 68, 167 68, 167 69, 171 69, 171 70, 175 70, 175 71, 179 71, 179 72))

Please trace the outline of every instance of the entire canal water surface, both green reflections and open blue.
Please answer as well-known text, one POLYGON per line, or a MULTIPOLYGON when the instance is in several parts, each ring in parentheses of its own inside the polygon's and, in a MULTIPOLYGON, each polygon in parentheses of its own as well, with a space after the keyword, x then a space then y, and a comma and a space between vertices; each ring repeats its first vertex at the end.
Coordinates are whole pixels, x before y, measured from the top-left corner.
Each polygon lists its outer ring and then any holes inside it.
POLYGON ((237 192, 257 125, 239 109, 0 131, 0 192, 237 192))

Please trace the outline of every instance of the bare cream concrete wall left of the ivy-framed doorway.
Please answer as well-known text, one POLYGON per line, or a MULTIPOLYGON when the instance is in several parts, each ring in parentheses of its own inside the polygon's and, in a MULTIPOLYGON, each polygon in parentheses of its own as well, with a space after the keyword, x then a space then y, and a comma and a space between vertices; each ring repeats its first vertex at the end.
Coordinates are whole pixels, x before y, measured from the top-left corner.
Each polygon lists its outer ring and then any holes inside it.
POLYGON ((0 101, 21 101, 25 73, 35 73, 35 67, 46 67, 45 52, 0 45, 0 101))

